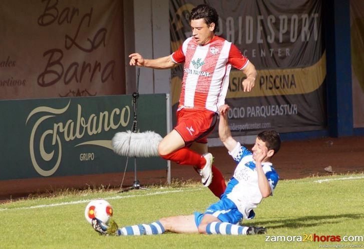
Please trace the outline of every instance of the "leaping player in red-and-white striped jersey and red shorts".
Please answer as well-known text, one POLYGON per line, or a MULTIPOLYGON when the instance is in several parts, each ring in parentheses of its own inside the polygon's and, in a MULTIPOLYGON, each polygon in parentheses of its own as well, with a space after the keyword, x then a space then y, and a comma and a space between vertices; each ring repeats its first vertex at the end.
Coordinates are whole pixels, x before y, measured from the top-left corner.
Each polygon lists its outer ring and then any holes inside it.
POLYGON ((177 51, 156 59, 132 53, 130 65, 167 69, 184 63, 177 125, 160 142, 158 152, 167 160, 193 165, 202 183, 220 197, 226 184, 212 165, 206 137, 216 124, 218 107, 225 103, 231 66, 247 76, 242 81, 244 91, 254 86, 256 70, 234 44, 215 35, 218 14, 213 7, 201 4, 193 8, 190 24, 192 36, 177 51))

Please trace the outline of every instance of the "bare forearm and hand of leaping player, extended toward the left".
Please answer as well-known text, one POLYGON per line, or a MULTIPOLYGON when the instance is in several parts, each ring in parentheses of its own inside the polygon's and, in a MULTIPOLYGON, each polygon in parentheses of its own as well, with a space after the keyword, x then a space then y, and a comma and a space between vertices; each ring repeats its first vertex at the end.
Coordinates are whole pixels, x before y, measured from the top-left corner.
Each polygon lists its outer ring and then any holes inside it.
POLYGON ((176 66, 171 59, 171 56, 159 57, 156 59, 146 59, 140 53, 132 53, 129 55, 130 65, 145 66, 154 69, 168 69, 176 66))

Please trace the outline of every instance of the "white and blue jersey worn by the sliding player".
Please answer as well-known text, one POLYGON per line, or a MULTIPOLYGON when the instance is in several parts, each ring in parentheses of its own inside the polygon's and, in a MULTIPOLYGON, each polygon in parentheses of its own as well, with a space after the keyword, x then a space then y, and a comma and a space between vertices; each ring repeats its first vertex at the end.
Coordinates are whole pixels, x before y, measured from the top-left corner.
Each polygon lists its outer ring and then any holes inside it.
MULTIPOLYGON (((248 218, 250 210, 255 208, 263 198, 258 186, 258 174, 253 154, 239 142, 232 151, 229 151, 229 154, 234 158, 237 166, 222 198, 227 197, 232 200, 244 218, 248 218)), ((262 162, 262 168, 273 193, 279 176, 271 162, 262 162)))

